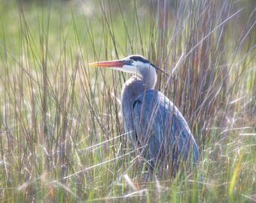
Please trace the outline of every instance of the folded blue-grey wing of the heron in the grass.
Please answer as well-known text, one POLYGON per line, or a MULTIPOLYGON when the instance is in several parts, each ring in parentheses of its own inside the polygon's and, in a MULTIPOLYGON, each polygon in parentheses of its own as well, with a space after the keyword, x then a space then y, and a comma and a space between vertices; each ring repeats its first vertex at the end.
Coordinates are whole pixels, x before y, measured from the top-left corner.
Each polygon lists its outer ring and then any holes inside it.
POLYGON ((138 95, 133 102, 133 124, 138 143, 145 146, 146 156, 153 162, 166 155, 172 161, 187 159, 191 146, 197 161, 197 144, 187 122, 163 93, 150 89, 138 95))

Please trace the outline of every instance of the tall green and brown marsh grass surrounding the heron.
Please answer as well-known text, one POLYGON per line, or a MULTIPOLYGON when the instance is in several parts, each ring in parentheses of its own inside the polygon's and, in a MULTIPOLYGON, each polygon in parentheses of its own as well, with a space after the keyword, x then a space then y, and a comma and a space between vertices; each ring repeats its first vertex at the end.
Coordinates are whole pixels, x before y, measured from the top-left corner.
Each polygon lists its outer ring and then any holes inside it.
POLYGON ((0 200, 256 201, 254 2, 3 2, 0 200), (88 62, 142 54, 200 147, 191 174, 148 175, 123 134, 127 74, 88 62))

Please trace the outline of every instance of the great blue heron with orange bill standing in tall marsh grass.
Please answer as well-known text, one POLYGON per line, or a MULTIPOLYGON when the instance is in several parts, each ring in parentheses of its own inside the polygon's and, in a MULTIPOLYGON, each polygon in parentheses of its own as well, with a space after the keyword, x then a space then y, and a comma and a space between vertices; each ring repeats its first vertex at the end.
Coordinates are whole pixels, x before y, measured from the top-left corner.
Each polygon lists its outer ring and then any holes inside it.
POLYGON ((165 162, 176 171, 181 165, 183 168, 197 163, 197 144, 186 120, 169 98, 154 90, 160 68, 139 55, 90 65, 135 74, 121 92, 123 126, 127 133, 131 132, 133 145, 140 147, 151 168, 165 162))

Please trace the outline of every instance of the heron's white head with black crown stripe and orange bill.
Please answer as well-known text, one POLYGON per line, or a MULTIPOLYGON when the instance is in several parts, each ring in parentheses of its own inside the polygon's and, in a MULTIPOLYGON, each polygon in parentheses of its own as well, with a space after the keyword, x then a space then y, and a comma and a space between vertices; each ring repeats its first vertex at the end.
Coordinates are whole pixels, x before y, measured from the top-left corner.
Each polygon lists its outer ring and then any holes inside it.
POLYGON ((148 59, 139 55, 127 56, 121 60, 92 62, 89 65, 108 67, 118 71, 139 74, 140 76, 144 75, 149 68, 157 69, 157 66, 151 64, 148 59))

